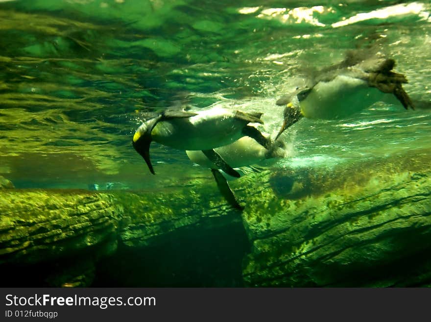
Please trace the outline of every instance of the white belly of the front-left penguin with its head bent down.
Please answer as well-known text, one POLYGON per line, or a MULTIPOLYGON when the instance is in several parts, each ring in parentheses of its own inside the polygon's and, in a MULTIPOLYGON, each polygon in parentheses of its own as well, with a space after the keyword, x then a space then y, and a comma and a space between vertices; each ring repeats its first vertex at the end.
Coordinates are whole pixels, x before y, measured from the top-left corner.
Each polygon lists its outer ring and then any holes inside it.
POLYGON ((213 108, 190 118, 161 121, 151 131, 151 137, 175 149, 208 150, 238 140, 246 123, 235 118, 235 111, 213 108))

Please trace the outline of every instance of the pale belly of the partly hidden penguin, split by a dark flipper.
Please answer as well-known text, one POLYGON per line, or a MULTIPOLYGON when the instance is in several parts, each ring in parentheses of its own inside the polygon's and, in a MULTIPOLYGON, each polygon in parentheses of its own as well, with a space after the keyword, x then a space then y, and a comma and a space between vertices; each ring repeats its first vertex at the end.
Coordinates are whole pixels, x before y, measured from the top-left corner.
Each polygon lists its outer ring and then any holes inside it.
MULTIPOLYGON (((232 144, 214 149, 223 160, 232 168, 253 165, 266 159, 267 149, 263 148, 254 139, 244 136, 232 144)), ((190 160, 207 168, 215 165, 202 153, 202 151, 186 151, 190 160)))

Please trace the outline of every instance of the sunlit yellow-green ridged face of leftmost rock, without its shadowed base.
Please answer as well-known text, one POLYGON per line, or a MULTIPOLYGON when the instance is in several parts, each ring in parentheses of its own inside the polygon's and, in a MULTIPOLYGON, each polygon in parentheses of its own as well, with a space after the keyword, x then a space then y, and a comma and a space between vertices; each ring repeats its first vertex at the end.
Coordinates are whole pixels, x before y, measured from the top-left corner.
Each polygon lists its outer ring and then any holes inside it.
POLYGON ((106 252, 116 249, 122 208, 111 195, 43 190, 0 195, 0 264, 66 257, 107 240, 113 243, 106 252))

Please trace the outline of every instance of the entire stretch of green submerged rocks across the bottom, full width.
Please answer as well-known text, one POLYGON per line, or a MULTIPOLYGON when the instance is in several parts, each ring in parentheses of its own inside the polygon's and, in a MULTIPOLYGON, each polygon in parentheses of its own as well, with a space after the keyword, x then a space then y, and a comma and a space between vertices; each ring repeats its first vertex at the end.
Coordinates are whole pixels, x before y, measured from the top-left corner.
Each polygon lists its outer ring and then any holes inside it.
POLYGON ((41 286, 101 286, 109 278, 97 274, 126 252, 113 269, 137 278, 127 261, 145 253, 137 267, 150 277, 118 285, 187 286, 196 273, 211 278, 193 286, 430 285, 428 155, 254 173, 231 184, 242 213, 209 180, 146 192, 0 190, 0 267, 11 285, 37 272, 41 286))

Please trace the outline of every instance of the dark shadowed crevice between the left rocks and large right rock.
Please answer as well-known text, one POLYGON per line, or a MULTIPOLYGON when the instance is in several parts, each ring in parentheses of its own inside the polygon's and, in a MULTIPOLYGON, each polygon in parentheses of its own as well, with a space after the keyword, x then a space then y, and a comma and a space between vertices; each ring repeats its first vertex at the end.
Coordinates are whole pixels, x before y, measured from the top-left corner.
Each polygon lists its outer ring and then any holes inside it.
POLYGON ((93 287, 240 287, 250 245, 242 223, 214 218, 127 247, 98 263, 93 287), (217 223, 218 222, 218 223, 217 223), (223 224, 224 223, 224 224, 223 224))

